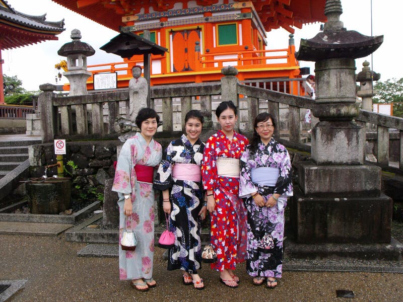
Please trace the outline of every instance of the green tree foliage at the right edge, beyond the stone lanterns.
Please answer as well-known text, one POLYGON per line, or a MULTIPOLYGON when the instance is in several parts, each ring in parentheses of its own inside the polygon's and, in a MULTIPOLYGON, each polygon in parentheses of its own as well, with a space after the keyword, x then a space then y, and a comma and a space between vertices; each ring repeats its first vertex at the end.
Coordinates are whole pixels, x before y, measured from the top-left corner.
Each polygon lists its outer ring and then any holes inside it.
POLYGON ((400 80, 388 79, 385 82, 378 81, 374 85, 374 103, 393 103, 393 115, 403 117, 403 78, 400 80), (398 104, 401 103, 401 104, 398 104))

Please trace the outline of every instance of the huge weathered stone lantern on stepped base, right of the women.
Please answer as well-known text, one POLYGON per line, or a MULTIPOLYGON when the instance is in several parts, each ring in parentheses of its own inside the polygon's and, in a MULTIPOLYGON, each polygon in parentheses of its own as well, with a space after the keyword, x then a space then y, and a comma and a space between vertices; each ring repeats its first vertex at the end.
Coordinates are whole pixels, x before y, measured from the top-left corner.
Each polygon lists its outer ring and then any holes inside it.
POLYGON ((315 243, 313 253, 319 243, 391 240, 392 200, 380 191, 381 169, 364 164, 365 128, 354 121, 359 115, 355 58, 374 52, 383 36, 346 30, 342 13, 340 0, 327 0, 324 31, 302 39, 296 55, 315 61, 312 113, 319 122, 312 129, 312 160, 298 165, 290 221, 298 243, 315 243))

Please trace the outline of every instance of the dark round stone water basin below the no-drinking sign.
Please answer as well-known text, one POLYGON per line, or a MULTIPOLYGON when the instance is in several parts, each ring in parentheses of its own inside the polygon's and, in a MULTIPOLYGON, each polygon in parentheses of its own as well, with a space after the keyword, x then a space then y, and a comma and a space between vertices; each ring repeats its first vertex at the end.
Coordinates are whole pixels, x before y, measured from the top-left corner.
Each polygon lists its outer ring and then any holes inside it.
POLYGON ((28 180, 25 188, 32 214, 59 214, 71 203, 70 178, 36 178, 28 180))

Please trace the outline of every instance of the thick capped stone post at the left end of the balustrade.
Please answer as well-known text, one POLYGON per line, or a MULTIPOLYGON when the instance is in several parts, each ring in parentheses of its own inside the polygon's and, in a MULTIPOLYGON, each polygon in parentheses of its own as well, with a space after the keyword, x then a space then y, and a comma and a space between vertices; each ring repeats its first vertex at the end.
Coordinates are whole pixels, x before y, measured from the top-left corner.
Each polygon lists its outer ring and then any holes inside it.
POLYGON ((53 91, 56 90, 56 86, 52 84, 42 84, 39 89, 43 91, 39 97, 39 108, 41 113, 41 137, 42 142, 50 142, 54 139, 55 131, 55 112, 53 109, 53 91))

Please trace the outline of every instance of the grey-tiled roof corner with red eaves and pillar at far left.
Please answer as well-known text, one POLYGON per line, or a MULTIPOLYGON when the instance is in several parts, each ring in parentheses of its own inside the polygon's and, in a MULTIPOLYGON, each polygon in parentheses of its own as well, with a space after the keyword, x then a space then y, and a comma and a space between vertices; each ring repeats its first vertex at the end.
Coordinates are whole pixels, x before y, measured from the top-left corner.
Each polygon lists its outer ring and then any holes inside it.
POLYGON ((0 0, 0 104, 4 104, 2 50, 36 44, 46 40, 58 40, 56 35, 65 29, 64 19, 46 21, 46 14, 30 16, 14 10, 6 1, 0 0))

